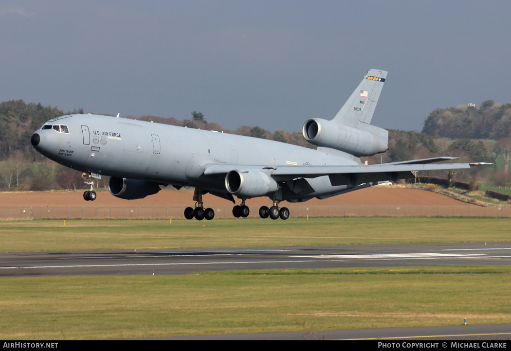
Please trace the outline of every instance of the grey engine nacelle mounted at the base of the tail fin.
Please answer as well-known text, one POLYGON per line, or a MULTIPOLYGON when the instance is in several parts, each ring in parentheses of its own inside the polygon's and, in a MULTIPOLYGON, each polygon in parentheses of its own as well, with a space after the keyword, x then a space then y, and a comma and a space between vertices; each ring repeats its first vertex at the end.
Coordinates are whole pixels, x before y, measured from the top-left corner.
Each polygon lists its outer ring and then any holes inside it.
POLYGON ((311 144, 331 147, 355 156, 373 156, 388 149, 388 131, 359 123, 366 130, 331 120, 313 118, 304 123, 301 133, 311 144))

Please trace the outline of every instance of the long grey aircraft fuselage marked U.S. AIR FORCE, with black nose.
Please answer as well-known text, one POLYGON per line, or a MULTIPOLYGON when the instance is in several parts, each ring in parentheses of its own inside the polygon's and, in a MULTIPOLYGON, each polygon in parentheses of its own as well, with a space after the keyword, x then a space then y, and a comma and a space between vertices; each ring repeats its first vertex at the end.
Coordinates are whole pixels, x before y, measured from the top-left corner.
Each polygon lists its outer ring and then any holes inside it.
MULTIPOLYGON (((224 179, 203 177, 205 167, 211 164, 257 165, 261 168, 360 164, 358 158, 342 158, 272 140, 111 116, 67 115, 52 119, 44 126, 52 128, 34 133, 39 135, 39 142, 34 147, 67 167, 111 177, 218 192, 226 192, 224 179), (67 133, 53 126, 65 126, 67 133)), ((333 188, 328 177, 311 179, 309 183, 314 191, 306 198, 346 188, 333 188), (327 185, 321 178, 327 178, 327 185)), ((304 199, 296 193, 277 197, 279 200, 304 199)))

